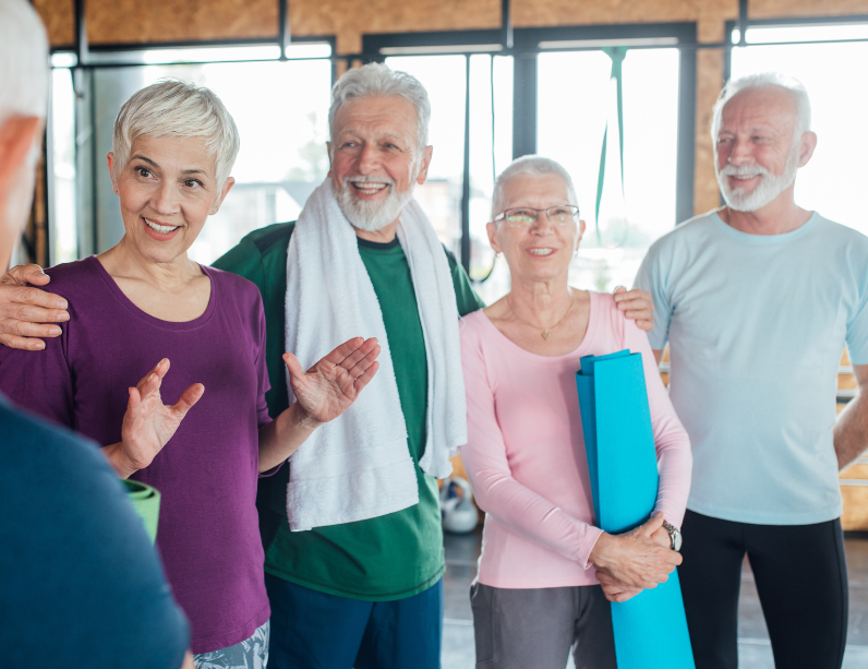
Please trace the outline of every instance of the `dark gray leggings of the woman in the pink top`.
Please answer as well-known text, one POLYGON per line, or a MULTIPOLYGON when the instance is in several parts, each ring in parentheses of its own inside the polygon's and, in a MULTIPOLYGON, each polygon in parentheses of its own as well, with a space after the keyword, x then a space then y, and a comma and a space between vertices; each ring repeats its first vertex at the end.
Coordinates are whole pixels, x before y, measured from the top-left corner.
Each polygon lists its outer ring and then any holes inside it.
POLYGON ((616 669, 608 601, 599 585, 470 586, 477 669, 616 669))

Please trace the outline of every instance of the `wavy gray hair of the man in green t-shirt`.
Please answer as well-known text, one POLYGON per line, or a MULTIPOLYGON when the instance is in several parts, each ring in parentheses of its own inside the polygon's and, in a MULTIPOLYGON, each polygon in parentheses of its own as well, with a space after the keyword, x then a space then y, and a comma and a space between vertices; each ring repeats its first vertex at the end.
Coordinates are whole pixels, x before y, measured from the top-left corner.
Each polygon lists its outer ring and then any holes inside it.
POLYGON ((427 91, 419 80, 384 63, 372 62, 348 70, 331 88, 331 106, 328 108, 328 131, 335 139, 335 117, 343 105, 369 95, 400 95, 415 107, 418 118, 417 142, 421 151, 427 146, 427 127, 431 122, 431 101, 427 91))

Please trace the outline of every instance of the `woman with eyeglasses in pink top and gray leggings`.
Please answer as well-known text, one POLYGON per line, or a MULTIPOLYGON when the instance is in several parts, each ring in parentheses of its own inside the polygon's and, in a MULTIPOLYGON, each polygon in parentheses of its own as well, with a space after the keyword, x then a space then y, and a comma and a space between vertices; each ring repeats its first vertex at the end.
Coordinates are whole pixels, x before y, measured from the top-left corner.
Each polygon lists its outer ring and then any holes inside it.
MULTIPOLYGON (((477 667, 615 668, 608 601, 666 581, 690 487, 690 444, 646 334, 613 296, 569 286, 584 222, 567 171, 526 156, 494 187, 492 248, 508 295, 465 316, 468 443, 486 512, 471 587, 477 667), (594 526, 575 374, 579 359, 641 353, 660 469, 654 514, 619 536, 594 526), (602 585, 601 585, 602 584, 602 585)), ((661 640, 665 643, 665 640, 661 640)))

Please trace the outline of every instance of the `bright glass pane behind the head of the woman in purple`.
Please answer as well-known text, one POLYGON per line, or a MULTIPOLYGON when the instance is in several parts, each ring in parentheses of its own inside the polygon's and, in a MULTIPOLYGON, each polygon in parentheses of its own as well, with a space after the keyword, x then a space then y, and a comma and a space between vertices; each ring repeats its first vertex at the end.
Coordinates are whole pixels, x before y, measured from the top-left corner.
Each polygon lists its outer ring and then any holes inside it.
MULTIPOLYGON (((326 45, 327 46, 327 45, 326 45)), ((146 55, 150 52, 145 52, 146 55)), ((147 58, 156 58, 147 56, 147 58)), ((111 151, 120 106, 136 91, 172 76, 212 88, 238 126, 236 184, 208 218, 190 256, 212 263, 248 232, 298 217, 328 172, 328 60, 107 68, 94 73, 97 156, 111 151), (299 95, 303 91, 303 95, 299 95)), ((97 250, 123 235, 117 196, 103 164, 97 179, 97 250)))

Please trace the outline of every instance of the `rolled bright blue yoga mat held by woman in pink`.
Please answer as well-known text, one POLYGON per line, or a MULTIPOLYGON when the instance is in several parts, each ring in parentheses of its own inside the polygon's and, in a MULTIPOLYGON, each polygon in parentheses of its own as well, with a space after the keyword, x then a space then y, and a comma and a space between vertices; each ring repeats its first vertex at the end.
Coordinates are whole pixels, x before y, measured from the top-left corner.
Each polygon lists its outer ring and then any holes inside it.
MULTIPOLYGON (((641 354, 586 356, 576 373, 596 524, 620 534, 644 523, 658 463, 641 354)), ((677 570, 666 583, 612 604, 618 669, 695 669, 677 570)))

